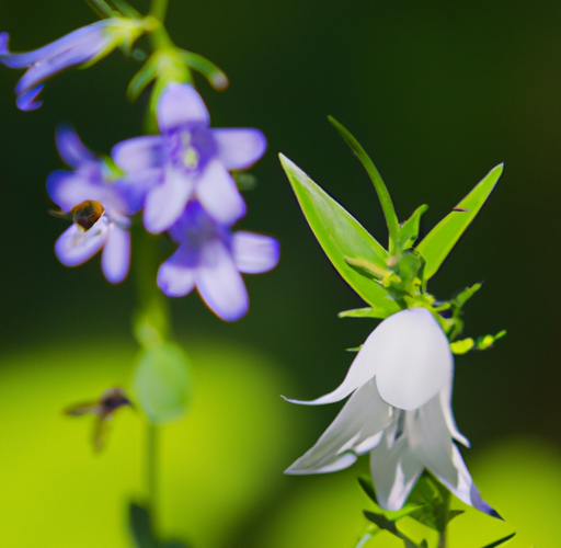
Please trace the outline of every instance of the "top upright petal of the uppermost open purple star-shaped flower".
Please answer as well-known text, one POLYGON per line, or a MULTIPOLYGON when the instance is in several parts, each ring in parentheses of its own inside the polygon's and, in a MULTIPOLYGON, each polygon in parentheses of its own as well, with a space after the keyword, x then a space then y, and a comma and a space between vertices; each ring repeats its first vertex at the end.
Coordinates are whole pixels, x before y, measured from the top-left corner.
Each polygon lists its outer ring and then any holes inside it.
POLYGON ((210 117, 195 88, 185 83, 170 83, 160 95, 157 106, 158 126, 168 133, 183 125, 208 126, 210 117))

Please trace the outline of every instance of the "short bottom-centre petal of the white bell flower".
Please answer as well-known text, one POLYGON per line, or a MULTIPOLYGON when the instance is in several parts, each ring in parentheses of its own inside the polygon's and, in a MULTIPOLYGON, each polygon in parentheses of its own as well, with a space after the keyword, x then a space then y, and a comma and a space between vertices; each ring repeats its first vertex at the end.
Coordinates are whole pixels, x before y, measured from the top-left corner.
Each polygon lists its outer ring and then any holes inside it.
POLYGON ((401 509, 422 472, 423 463, 410 449, 407 436, 391 448, 385 437, 370 452, 370 473, 382 509, 401 509))

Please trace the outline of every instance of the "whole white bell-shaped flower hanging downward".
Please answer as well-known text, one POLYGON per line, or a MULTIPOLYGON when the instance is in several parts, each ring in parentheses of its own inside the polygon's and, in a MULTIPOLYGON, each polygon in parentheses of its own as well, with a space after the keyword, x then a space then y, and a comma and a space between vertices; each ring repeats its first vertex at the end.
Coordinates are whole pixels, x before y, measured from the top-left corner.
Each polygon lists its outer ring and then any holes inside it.
POLYGON ((317 400, 342 400, 353 392, 316 445, 286 473, 342 470, 370 453, 370 472, 380 506, 399 510, 426 468, 458 499, 488 513, 453 438, 453 356, 431 312, 402 310, 370 333, 343 384, 317 400))

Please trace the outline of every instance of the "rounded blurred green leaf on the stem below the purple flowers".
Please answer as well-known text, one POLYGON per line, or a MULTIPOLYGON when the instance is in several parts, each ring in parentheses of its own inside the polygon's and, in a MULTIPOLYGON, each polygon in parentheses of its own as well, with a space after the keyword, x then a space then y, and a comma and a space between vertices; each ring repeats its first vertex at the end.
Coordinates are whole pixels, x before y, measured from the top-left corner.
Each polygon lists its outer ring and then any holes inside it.
POLYGON ((191 388, 187 358, 176 344, 168 342, 141 352, 133 391, 151 423, 162 424, 184 414, 191 388))

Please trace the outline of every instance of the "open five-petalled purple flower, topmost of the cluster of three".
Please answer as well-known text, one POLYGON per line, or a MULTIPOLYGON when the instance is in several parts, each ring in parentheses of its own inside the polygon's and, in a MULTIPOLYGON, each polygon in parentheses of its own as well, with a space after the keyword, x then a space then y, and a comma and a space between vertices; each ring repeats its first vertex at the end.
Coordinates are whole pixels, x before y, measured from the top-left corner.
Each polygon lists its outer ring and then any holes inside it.
POLYGON ((210 128, 205 103, 188 84, 164 89, 157 117, 161 135, 128 139, 113 149, 115 163, 128 178, 153 183, 144 210, 147 230, 168 230, 195 198, 217 222, 232 225, 244 215, 245 204, 229 170, 245 169, 263 156, 263 134, 210 128))

